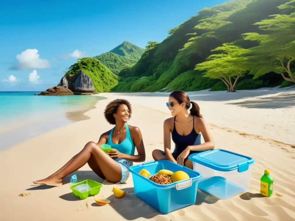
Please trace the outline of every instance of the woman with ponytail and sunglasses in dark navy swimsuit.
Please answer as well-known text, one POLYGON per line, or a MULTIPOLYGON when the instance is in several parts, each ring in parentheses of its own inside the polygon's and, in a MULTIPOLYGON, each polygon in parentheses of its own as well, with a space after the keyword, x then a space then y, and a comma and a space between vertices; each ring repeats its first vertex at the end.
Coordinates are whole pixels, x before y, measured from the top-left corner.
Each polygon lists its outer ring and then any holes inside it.
POLYGON ((208 131, 207 123, 200 113, 200 107, 189 96, 181 91, 173 91, 169 95, 167 107, 173 117, 164 121, 164 151, 154 150, 154 160, 167 159, 174 163, 193 169, 188 156, 214 149, 213 139, 208 131), (192 105, 192 106, 191 106, 192 105), (188 113, 191 107, 190 113, 188 113), (205 143, 201 144, 201 134, 205 143), (175 144, 171 151, 171 136, 175 144))

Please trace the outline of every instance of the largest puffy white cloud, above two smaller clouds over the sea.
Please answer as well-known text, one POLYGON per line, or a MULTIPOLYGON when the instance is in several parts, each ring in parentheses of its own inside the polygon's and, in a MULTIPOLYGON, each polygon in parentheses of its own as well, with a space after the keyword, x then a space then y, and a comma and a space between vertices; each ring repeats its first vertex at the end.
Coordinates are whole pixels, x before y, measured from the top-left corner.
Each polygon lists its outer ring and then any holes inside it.
POLYGON ((37 49, 27 49, 18 54, 17 61, 19 64, 13 69, 25 70, 28 68, 46 69, 50 68, 50 63, 46 59, 41 59, 37 49))

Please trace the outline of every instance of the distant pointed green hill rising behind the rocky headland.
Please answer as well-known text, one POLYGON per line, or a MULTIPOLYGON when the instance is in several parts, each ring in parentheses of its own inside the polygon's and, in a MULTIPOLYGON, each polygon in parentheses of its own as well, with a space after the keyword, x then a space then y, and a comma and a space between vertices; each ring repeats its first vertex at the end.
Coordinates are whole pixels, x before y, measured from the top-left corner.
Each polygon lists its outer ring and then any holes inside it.
POLYGON ((118 74, 125 65, 135 64, 143 54, 144 49, 124 41, 113 50, 97 55, 94 58, 103 63, 114 74, 118 74))

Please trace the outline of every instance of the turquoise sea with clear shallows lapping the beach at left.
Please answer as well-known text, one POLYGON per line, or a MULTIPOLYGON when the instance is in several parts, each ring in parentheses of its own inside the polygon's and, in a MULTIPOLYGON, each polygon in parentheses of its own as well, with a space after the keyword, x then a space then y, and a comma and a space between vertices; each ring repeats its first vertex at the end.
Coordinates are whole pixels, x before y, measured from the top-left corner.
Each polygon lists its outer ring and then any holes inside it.
POLYGON ((94 107, 100 96, 37 96, 0 92, 0 150, 76 121, 69 115, 94 107))

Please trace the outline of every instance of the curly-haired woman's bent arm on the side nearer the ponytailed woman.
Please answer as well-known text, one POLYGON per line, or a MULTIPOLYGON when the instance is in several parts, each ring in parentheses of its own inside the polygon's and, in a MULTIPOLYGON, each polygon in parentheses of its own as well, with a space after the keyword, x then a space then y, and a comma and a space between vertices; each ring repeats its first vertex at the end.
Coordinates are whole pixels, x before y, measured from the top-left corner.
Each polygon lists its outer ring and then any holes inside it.
POLYGON ((138 127, 133 127, 132 132, 134 132, 134 144, 137 149, 137 155, 123 154, 121 159, 127 159, 132 162, 144 162, 145 161, 145 146, 142 140, 142 134, 138 127))

